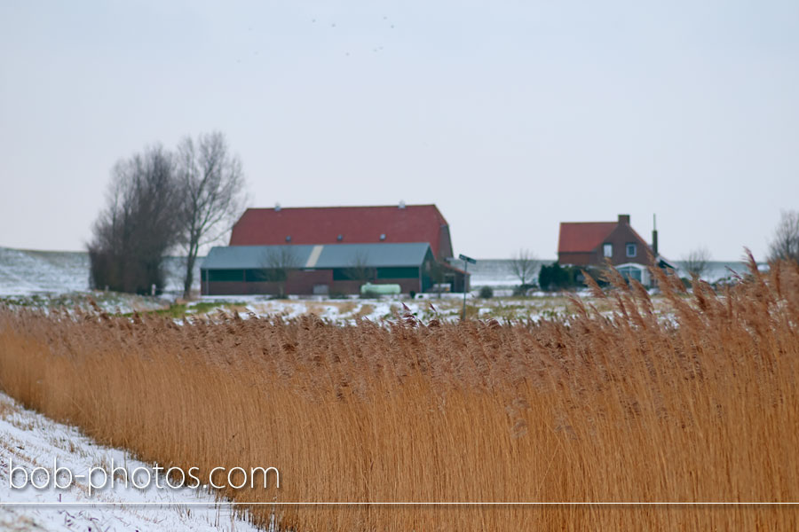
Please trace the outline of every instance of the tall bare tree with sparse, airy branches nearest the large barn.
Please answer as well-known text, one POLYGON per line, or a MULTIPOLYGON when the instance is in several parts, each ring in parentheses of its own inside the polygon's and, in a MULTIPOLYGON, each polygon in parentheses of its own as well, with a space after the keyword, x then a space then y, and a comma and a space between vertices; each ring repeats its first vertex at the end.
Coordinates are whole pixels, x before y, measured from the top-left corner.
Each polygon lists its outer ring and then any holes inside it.
POLYGON ((246 201, 241 160, 232 155, 225 136, 214 131, 178 145, 177 176, 182 194, 180 239, 186 250, 183 296, 191 295, 194 264, 201 246, 228 231, 246 201))

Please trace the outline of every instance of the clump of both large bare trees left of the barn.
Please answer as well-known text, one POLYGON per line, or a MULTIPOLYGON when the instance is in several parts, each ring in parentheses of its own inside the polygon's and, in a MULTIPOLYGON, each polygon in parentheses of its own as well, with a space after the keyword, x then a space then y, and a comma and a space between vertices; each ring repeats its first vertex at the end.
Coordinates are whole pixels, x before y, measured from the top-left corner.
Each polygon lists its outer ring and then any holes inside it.
POLYGON ((186 255, 184 297, 191 294, 202 246, 228 231, 246 203, 241 160, 214 131, 184 137, 174 151, 162 145, 118 160, 107 205, 88 245, 91 285, 118 292, 161 293, 163 259, 186 255))

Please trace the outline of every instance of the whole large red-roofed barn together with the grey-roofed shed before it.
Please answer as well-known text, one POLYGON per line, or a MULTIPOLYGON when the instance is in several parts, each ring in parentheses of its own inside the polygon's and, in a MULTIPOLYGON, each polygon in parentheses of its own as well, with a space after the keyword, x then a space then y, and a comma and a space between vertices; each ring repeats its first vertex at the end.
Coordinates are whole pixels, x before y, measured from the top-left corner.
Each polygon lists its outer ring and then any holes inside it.
POLYGON ((469 288, 447 262, 449 224, 435 205, 249 208, 230 246, 211 252, 203 293, 359 293, 364 281, 406 293, 469 288), (297 260, 287 269, 265 254, 297 260))

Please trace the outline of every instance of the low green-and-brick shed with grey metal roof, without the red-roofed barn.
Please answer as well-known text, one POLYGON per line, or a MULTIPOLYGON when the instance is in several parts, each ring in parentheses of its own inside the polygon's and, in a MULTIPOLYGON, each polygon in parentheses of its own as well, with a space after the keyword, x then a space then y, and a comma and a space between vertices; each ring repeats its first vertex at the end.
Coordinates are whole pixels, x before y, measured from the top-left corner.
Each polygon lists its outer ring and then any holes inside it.
POLYGON ((428 290, 437 262, 427 242, 220 246, 202 262, 204 295, 360 293, 360 286, 428 290))

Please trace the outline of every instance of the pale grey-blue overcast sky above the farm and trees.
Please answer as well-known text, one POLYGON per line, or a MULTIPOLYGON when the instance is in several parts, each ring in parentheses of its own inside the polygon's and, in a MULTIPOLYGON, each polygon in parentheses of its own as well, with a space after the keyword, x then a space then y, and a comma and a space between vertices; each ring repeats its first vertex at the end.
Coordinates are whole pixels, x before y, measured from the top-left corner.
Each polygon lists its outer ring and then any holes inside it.
POLYGON ((619 213, 758 259, 799 208, 799 2, 0 3, 0 246, 83 249, 118 160, 225 133, 254 207, 436 203, 455 254, 619 213))

